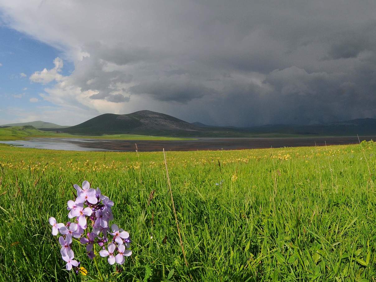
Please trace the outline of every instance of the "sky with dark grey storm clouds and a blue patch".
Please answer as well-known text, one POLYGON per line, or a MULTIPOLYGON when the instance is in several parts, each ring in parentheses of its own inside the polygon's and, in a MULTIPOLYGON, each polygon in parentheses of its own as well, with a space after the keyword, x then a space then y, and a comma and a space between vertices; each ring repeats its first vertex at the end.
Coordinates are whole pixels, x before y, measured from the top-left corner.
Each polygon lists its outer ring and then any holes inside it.
POLYGON ((376 118, 376 2, 0 0, 0 124, 376 118))

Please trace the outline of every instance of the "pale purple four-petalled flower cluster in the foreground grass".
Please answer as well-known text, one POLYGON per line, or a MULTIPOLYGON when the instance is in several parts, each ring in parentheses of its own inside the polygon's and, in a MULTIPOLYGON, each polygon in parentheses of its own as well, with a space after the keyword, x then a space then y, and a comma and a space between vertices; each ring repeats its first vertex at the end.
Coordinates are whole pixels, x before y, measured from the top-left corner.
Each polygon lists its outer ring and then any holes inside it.
POLYGON ((86 253, 90 259, 96 256, 93 246, 97 244, 101 249, 99 255, 108 256, 109 264, 123 264, 124 256, 132 255, 132 251, 129 250, 131 241, 128 232, 119 229, 116 224, 109 225, 114 218, 111 210, 114 202, 102 195, 99 188, 90 188, 90 183, 86 180, 82 183, 82 188, 77 184, 74 184, 74 188, 77 190, 77 198, 67 203, 68 218, 71 222, 63 224, 57 223, 54 217, 49 219, 52 235, 61 234, 60 253, 62 259, 67 262, 67 270, 74 268, 77 273, 79 271, 80 263, 74 260, 71 249, 73 238, 86 245, 86 253))

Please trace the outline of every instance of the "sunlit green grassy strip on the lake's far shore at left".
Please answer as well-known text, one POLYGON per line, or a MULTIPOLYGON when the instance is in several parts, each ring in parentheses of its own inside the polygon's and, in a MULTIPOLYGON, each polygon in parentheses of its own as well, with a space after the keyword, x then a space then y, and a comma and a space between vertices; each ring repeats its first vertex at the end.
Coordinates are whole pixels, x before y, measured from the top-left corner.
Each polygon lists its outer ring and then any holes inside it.
POLYGON ((124 139, 124 140, 188 140, 192 138, 174 138, 134 134, 114 134, 100 136, 71 135, 52 131, 38 130, 28 126, 13 126, 0 128, 0 140, 17 140, 27 138, 89 138, 89 139, 124 139))

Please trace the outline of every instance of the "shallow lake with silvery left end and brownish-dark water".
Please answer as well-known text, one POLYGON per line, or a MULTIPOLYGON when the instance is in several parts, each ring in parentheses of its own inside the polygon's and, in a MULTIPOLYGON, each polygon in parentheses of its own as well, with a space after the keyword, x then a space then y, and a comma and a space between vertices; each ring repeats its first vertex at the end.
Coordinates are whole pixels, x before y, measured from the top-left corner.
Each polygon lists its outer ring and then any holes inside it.
MULTIPOLYGON (((375 140, 376 136, 361 136, 360 140, 375 140)), ((239 150, 298 146, 325 146, 359 143, 357 136, 308 138, 197 138, 192 140, 104 140, 79 138, 33 138, 29 140, 0 141, 26 148, 72 151, 126 151, 139 152, 239 150)))

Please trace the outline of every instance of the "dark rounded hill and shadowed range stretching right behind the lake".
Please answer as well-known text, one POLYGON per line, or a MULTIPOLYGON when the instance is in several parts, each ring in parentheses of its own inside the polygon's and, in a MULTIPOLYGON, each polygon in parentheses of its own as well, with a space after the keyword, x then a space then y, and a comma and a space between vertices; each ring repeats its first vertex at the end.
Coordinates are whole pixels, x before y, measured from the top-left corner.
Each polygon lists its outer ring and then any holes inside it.
MULTIPOLYGON (((49 130, 49 129, 44 129, 49 130)), ((303 137, 376 135, 376 119, 364 118, 326 124, 269 124, 253 127, 209 126, 188 123, 152 111, 103 114, 76 126, 60 129, 77 135, 139 134, 176 137, 303 137)))

